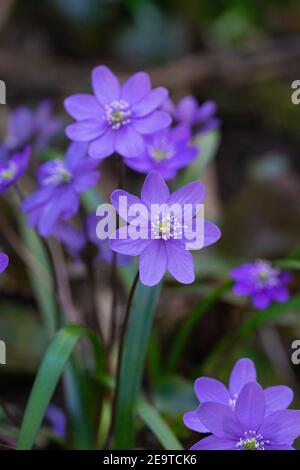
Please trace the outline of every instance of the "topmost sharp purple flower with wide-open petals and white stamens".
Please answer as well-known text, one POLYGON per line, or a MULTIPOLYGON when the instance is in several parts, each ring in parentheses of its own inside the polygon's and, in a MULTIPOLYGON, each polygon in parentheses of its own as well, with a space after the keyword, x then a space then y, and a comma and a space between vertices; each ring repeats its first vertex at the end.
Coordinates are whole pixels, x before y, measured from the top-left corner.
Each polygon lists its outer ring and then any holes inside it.
POLYGON ((103 159, 114 152, 136 157, 144 152, 144 136, 171 123, 158 110, 168 96, 165 88, 151 89, 147 73, 138 72, 123 85, 105 66, 92 71, 94 95, 77 94, 65 100, 67 112, 78 122, 67 127, 71 140, 89 142, 89 155, 103 159))

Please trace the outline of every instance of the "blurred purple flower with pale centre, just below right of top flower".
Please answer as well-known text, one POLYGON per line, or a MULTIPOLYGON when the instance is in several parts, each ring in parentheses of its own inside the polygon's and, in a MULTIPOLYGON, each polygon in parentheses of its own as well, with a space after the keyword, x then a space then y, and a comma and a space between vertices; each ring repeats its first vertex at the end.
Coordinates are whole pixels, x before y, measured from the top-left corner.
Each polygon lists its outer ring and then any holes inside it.
POLYGON ((146 137, 145 151, 137 158, 127 158, 125 163, 140 173, 156 170, 168 180, 197 157, 198 149, 190 145, 190 137, 186 126, 156 132, 146 137))

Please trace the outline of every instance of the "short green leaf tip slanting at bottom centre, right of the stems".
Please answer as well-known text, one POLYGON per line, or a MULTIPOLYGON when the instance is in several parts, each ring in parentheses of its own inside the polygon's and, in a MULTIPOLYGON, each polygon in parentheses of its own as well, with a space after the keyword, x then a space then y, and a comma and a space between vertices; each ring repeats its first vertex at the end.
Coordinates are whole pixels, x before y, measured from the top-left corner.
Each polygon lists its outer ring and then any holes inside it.
POLYGON ((140 399, 137 405, 137 412, 141 420, 151 429, 164 449, 183 450, 177 437, 152 405, 140 399))

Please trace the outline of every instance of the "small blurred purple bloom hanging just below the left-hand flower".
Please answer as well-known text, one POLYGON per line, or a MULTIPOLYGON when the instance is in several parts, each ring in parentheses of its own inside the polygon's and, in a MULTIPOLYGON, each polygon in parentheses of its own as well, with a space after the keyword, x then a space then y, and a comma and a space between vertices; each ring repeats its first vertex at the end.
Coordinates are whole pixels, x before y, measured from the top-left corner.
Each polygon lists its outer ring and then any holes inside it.
POLYGON ((64 220, 59 220, 53 228, 52 235, 64 245, 72 258, 79 257, 86 242, 82 231, 76 230, 64 220))

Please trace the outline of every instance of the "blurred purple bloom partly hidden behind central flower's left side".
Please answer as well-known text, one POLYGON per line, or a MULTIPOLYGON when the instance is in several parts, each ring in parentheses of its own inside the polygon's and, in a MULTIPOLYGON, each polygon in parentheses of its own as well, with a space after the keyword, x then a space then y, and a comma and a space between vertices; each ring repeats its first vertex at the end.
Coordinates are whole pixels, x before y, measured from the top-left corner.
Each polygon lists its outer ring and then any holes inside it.
MULTIPOLYGON (((93 243, 98 249, 97 261, 105 262, 111 264, 113 258, 113 252, 109 246, 109 240, 101 240, 97 237, 96 227, 98 223, 98 218, 96 214, 89 214, 86 218, 86 234, 88 240, 93 243)), ((126 266, 131 262, 131 256, 118 254, 117 255, 117 265, 126 266)))

